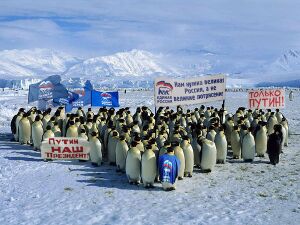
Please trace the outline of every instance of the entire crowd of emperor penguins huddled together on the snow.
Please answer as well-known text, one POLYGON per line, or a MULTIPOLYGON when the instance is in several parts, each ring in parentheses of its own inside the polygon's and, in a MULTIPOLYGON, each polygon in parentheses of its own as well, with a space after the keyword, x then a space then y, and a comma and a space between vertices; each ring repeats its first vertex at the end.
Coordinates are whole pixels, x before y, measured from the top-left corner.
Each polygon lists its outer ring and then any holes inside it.
POLYGON ((160 107, 156 114, 143 106, 134 115, 128 107, 118 111, 104 107, 97 114, 81 107, 75 114, 65 114, 59 107, 53 115, 51 108, 44 112, 20 108, 11 121, 14 140, 20 144, 39 150, 46 138, 83 138, 90 143, 94 166, 108 161, 126 173, 129 183, 142 181, 145 187, 153 187, 161 181, 165 190, 174 190, 177 179, 192 177, 194 166, 210 172, 216 163, 225 163, 228 149, 233 159, 246 162, 252 162, 255 153, 258 157, 268 153, 270 163, 276 165, 288 145, 288 129, 279 109, 240 107, 232 115, 203 105, 185 113, 181 106, 160 107), (164 155, 175 160, 161 162, 164 155))

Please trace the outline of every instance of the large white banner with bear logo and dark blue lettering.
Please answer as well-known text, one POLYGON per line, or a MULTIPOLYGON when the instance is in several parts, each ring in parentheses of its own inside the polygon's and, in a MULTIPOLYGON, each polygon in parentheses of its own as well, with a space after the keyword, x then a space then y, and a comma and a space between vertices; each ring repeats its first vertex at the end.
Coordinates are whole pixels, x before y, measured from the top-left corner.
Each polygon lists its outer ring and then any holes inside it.
POLYGON ((225 99, 225 75, 201 76, 192 79, 156 78, 156 106, 192 105, 225 99))

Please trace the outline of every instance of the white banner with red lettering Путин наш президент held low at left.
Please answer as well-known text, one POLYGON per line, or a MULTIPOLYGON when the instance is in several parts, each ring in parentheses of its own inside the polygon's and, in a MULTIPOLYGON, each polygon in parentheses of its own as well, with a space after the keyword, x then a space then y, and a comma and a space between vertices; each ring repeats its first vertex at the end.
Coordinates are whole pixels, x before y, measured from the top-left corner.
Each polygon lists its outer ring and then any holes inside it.
POLYGON ((42 142, 43 159, 89 160, 90 144, 80 138, 54 137, 42 142))

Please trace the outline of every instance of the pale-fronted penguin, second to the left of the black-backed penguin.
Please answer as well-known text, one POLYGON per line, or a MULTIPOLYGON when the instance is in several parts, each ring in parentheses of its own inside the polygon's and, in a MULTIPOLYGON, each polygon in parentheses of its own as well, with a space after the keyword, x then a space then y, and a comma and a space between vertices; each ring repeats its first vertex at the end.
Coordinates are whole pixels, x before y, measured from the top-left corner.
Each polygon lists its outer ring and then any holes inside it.
POLYGON ((251 128, 248 129, 242 140, 242 157, 245 162, 252 162, 255 157, 255 140, 251 128))

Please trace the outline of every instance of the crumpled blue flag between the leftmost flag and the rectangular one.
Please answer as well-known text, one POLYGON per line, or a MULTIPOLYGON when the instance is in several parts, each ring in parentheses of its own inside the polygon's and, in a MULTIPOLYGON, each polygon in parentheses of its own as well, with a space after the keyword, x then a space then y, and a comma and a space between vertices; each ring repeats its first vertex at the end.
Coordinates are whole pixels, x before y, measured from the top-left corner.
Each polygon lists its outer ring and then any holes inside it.
POLYGON ((79 95, 79 98, 70 104, 66 104, 66 112, 72 111, 73 108, 83 107, 85 105, 91 104, 91 92, 93 90, 93 85, 89 80, 87 80, 84 86, 73 87, 73 92, 79 95))

